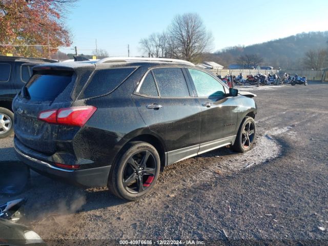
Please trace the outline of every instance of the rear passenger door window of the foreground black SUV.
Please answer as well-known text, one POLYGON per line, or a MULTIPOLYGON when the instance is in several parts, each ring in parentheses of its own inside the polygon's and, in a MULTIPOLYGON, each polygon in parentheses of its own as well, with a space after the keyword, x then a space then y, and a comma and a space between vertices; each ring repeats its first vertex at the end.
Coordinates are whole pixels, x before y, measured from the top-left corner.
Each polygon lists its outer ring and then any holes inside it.
POLYGON ((189 97, 189 90, 181 68, 153 70, 161 97, 189 97))

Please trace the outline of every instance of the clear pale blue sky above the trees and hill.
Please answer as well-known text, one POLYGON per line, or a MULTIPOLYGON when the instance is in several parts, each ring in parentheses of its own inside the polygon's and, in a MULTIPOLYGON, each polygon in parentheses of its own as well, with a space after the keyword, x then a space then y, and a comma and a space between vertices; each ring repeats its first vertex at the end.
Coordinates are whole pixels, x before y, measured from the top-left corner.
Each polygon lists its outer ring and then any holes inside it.
POLYGON ((79 0, 65 24, 72 46, 65 53, 142 55, 141 38, 165 31, 174 16, 198 13, 214 37, 212 52, 252 45, 301 32, 328 31, 328 0, 79 0))

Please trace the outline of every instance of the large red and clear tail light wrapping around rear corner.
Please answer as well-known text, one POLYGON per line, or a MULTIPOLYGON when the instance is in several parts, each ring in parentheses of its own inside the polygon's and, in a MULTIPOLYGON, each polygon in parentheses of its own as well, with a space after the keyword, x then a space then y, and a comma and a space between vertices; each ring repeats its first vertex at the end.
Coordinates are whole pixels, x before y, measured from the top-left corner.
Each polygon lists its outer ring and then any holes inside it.
POLYGON ((37 118, 50 124, 83 127, 96 110, 93 106, 51 109, 41 111, 37 118))

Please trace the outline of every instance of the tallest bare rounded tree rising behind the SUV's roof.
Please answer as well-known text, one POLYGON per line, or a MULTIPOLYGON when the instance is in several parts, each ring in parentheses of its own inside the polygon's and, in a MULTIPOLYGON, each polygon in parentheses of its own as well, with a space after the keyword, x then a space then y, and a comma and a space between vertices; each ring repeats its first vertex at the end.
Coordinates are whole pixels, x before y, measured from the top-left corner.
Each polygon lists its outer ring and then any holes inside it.
POLYGON ((213 37, 207 32, 196 13, 177 15, 167 34, 168 55, 189 61, 197 61, 203 52, 210 51, 213 37))

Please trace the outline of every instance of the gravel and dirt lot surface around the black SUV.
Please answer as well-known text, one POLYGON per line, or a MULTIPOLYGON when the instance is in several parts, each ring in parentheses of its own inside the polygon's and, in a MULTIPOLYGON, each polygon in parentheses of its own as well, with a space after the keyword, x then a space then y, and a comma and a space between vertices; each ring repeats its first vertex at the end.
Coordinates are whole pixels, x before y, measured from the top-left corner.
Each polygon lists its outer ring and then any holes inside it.
MULTIPOLYGON (((175 163, 150 195, 134 202, 107 188, 85 190, 33 173, 28 190, 16 196, 28 198, 21 222, 50 244, 328 244, 328 85, 254 93, 252 151, 222 148, 175 163)), ((0 140, 1 161, 16 158, 12 146, 12 138, 0 140)))

